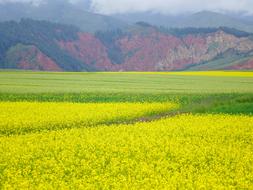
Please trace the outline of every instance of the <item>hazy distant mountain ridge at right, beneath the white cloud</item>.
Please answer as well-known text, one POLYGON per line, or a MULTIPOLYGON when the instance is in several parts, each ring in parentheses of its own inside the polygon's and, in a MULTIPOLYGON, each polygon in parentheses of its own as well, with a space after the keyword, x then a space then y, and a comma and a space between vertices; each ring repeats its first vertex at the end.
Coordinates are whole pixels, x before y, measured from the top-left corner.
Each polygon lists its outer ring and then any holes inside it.
POLYGON ((228 27, 253 32, 253 21, 250 16, 222 14, 211 11, 202 11, 190 15, 163 15, 154 12, 128 13, 114 15, 127 22, 148 22, 156 26, 168 28, 218 28, 228 27))

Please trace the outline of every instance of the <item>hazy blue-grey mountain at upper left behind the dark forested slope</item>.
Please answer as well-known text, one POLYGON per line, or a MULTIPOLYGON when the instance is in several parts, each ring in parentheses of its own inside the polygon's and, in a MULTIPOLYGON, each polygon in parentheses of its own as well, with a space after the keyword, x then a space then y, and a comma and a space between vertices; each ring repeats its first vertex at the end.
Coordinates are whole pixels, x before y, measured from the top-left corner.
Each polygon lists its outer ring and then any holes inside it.
POLYGON ((74 25, 84 32, 91 33, 127 26, 127 23, 116 18, 89 12, 85 6, 79 8, 78 4, 62 0, 43 2, 37 6, 30 3, 0 3, 0 21, 20 21, 22 18, 46 20, 74 25))

